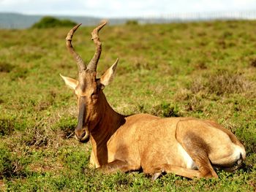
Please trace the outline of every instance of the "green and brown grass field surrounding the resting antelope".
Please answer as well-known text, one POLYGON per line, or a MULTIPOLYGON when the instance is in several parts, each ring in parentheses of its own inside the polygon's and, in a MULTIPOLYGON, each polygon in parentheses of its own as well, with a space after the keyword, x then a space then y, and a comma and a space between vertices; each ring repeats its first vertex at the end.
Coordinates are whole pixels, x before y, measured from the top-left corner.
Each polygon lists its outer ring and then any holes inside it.
MULTIPOLYGON (((59 73, 77 77, 65 47, 69 28, 0 30, 0 191, 255 191, 256 21, 106 26, 98 74, 119 58, 105 88, 123 114, 216 120, 241 140, 247 158, 219 180, 174 174, 152 182, 134 172, 89 169, 91 146, 75 140, 76 97, 59 73)), ((94 54, 92 28, 73 45, 94 54)))

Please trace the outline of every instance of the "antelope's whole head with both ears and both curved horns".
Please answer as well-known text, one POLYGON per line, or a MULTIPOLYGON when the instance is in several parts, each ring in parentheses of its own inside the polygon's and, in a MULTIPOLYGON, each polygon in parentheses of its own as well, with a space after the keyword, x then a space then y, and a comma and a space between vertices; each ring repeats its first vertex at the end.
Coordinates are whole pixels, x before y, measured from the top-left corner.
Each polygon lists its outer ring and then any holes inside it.
POLYGON ((94 31, 91 33, 91 37, 96 45, 96 51, 88 66, 83 63, 82 58, 75 52, 71 44, 72 36, 80 25, 72 28, 66 37, 67 49, 73 55, 75 61, 77 61, 79 75, 78 80, 62 75, 61 77, 66 85, 75 91, 75 94, 78 97, 78 126, 75 128, 75 137, 80 142, 89 141, 90 131, 97 126, 99 119, 102 117, 102 112, 104 110, 102 107, 105 101, 102 89, 113 80, 113 75, 118 63, 117 59, 102 77, 99 79, 96 78, 97 63, 102 50, 98 33, 105 24, 106 22, 102 23, 97 28, 94 28, 94 31))

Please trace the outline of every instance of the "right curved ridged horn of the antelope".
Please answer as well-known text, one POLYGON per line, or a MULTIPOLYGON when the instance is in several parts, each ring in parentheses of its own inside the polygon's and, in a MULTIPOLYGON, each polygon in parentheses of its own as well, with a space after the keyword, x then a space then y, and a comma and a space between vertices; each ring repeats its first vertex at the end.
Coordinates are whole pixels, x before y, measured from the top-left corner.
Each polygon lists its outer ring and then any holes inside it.
POLYGON ((96 72, 97 64, 99 61, 100 53, 102 52, 102 43, 99 42, 99 30, 107 24, 107 21, 102 23, 101 25, 97 26, 97 28, 94 28, 94 31, 91 32, 91 39, 94 40, 94 44, 96 45, 96 50, 94 53, 94 57, 91 58, 90 63, 88 64, 87 68, 91 72, 96 72))

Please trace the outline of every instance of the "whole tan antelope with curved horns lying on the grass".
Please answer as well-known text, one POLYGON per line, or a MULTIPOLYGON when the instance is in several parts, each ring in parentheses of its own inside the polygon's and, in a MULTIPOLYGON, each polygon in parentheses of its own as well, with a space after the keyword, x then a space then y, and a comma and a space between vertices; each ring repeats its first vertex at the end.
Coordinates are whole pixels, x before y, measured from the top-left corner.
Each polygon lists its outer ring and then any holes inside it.
POLYGON ((148 114, 121 115, 115 112, 103 93, 112 80, 116 62, 100 77, 97 63, 102 50, 99 30, 92 31, 96 45, 88 66, 75 52, 71 41, 75 26, 67 34, 67 49, 78 64, 78 80, 61 76, 78 96, 78 126, 75 137, 91 140, 90 163, 103 172, 142 169, 153 174, 173 172, 183 177, 218 177, 214 166, 234 169, 245 159, 244 146, 229 130, 211 120, 197 118, 158 118, 148 114))

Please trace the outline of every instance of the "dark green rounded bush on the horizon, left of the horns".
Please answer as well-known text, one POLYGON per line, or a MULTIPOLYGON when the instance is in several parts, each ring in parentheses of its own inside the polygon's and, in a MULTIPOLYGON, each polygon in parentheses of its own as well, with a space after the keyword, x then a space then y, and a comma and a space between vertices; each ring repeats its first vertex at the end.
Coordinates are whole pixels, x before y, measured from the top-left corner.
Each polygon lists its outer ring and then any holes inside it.
POLYGON ((77 23, 72 20, 59 20, 53 17, 44 17, 39 22, 34 23, 32 28, 53 28, 53 27, 71 27, 75 26, 77 23))

